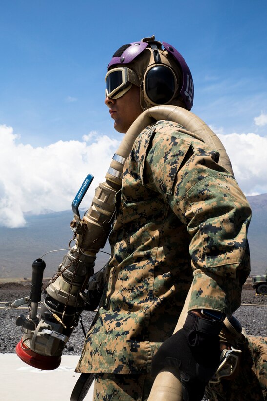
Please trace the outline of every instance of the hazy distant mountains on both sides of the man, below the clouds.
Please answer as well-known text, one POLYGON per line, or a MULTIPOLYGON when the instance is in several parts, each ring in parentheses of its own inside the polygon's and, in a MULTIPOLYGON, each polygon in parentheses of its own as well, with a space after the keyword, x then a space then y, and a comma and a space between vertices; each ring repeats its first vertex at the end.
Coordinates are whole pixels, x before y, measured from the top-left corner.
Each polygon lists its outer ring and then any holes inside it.
MULTIPOLYGON (((247 197, 253 212, 249 227, 252 274, 263 273, 267 267, 267 194, 247 197)), ((81 213, 82 214, 82 213, 81 213)), ((51 212, 26 215, 24 228, 0 227, 0 278, 31 277, 32 262, 46 252, 67 248, 72 239, 69 223, 72 212, 51 212)), ((109 245, 103 249, 109 252, 109 245)), ((67 251, 53 252, 44 257, 44 277, 51 277, 67 251)), ((107 262, 108 255, 99 253, 95 270, 107 262)))

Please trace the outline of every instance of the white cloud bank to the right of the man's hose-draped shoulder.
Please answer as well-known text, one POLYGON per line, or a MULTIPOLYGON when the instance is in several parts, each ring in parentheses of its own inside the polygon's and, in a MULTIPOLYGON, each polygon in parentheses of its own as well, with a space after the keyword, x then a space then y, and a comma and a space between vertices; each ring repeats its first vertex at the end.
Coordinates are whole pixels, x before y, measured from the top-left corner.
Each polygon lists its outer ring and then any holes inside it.
POLYGON ((267 138, 254 133, 218 133, 218 137, 226 148, 242 191, 246 195, 267 193, 267 138))

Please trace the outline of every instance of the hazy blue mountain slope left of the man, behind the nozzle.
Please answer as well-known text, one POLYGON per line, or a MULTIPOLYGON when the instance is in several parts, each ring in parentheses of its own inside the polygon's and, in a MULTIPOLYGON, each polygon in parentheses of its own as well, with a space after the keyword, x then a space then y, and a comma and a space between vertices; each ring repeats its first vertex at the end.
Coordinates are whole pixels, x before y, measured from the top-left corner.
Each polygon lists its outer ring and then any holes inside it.
MULTIPOLYGON (((82 212, 80 211, 81 215, 82 212)), ((23 228, 0 227, 0 278, 30 278, 32 262, 46 252, 68 248, 73 233, 70 222, 71 211, 48 214, 26 214, 27 226, 23 228)), ((103 249, 110 252, 109 245, 103 249)), ((44 256, 44 277, 51 277, 62 262, 67 250, 52 252, 44 256)), ((109 256, 99 253, 95 270, 108 261, 109 256)))

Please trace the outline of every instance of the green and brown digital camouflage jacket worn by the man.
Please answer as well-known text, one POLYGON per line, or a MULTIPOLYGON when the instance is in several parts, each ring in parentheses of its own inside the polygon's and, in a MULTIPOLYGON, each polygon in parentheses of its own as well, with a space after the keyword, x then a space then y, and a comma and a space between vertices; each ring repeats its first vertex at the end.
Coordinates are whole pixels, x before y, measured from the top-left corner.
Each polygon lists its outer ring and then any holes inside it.
POLYGON ((106 291, 79 372, 141 373, 189 309, 231 315, 249 271, 251 210, 219 154, 179 124, 137 137, 123 169, 106 291))

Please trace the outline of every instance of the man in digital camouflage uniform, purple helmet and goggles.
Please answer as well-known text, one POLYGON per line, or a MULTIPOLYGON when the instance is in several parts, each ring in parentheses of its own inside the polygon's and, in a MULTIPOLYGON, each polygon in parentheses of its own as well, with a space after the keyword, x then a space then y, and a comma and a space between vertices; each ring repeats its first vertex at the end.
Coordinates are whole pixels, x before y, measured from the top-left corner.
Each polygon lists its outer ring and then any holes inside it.
MULTIPOLYGON (((144 108, 192 107, 191 72, 165 42, 123 45, 108 71, 105 103, 119 132, 144 108)), ((148 397, 152 358, 172 336, 191 284, 190 311, 230 316, 240 305, 251 210, 218 159, 172 121, 137 137, 116 197, 105 290, 77 366, 96 373, 95 400, 148 397)))

